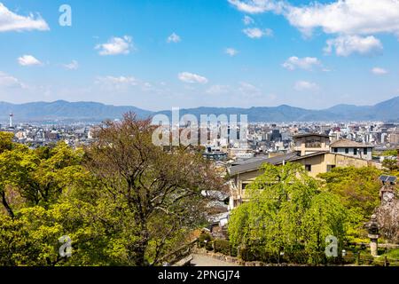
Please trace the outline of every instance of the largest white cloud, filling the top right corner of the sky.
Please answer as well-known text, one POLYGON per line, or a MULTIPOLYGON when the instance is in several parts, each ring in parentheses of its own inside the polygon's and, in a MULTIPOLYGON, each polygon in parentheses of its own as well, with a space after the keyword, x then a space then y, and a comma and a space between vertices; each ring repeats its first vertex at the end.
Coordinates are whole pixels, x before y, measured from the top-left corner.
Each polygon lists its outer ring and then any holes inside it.
POLYGON ((314 28, 326 34, 371 35, 393 33, 399 36, 399 1, 339 0, 330 4, 286 5, 286 18, 309 35, 314 28))

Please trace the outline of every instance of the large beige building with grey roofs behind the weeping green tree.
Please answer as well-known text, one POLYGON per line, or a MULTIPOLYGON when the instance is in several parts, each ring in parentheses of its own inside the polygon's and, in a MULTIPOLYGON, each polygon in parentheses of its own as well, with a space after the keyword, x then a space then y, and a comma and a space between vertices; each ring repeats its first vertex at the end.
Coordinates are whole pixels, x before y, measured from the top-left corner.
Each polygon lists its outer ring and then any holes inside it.
POLYGON ((370 153, 371 157, 372 146, 353 144, 349 143, 348 140, 338 140, 330 145, 328 136, 319 134, 296 136, 293 138, 293 145, 293 152, 288 154, 281 154, 271 158, 254 157, 253 159, 231 164, 228 169, 231 176, 231 209, 246 201, 246 185, 251 184, 256 177, 262 174, 260 169, 263 163, 281 165, 286 162, 299 162, 309 172, 311 177, 317 177, 319 173, 328 172, 335 167, 381 167, 379 163, 372 162, 372 159, 369 159, 369 155, 365 156, 364 152, 362 152, 362 155, 354 154, 353 148, 362 149, 362 151, 366 148, 367 154, 370 153), (349 144, 352 146, 352 152, 348 154, 345 154, 345 151, 344 153, 335 152, 335 148, 332 147, 334 145, 338 148, 343 146, 345 149, 349 144))

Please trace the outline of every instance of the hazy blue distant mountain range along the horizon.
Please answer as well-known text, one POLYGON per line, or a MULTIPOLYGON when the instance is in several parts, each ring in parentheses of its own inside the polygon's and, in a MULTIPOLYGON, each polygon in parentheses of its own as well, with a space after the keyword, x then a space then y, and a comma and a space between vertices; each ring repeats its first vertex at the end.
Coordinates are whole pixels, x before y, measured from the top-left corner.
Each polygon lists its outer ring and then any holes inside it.
MULTIPOLYGON (((14 114, 16 122, 90 121, 119 119, 127 112, 140 118, 154 114, 167 114, 170 110, 152 112, 136 106, 110 106, 96 102, 32 102, 10 104, 0 102, 0 120, 14 114)), ((375 106, 337 105, 323 110, 309 110, 294 106, 197 107, 181 109, 180 115, 194 114, 247 114, 249 122, 317 122, 317 121, 392 121, 399 122, 399 97, 388 99, 375 106)))

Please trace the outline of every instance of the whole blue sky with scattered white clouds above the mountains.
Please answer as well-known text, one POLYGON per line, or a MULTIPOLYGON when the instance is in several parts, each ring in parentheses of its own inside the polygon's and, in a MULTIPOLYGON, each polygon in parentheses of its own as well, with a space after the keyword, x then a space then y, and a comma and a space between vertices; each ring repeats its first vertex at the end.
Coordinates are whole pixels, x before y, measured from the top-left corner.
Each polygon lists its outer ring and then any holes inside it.
POLYGON ((325 108, 399 95, 395 0, 0 3, 2 101, 325 108))

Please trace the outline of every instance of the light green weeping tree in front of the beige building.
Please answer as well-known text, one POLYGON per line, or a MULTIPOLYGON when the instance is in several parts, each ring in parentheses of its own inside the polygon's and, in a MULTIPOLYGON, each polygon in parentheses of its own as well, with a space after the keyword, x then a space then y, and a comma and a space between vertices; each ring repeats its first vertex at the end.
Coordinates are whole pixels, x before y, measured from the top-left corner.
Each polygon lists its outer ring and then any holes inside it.
POLYGON ((346 211, 334 194, 321 192, 300 164, 264 164, 262 170, 248 186, 249 201, 232 211, 231 245, 274 255, 304 251, 316 263, 327 235, 342 243, 346 211))

